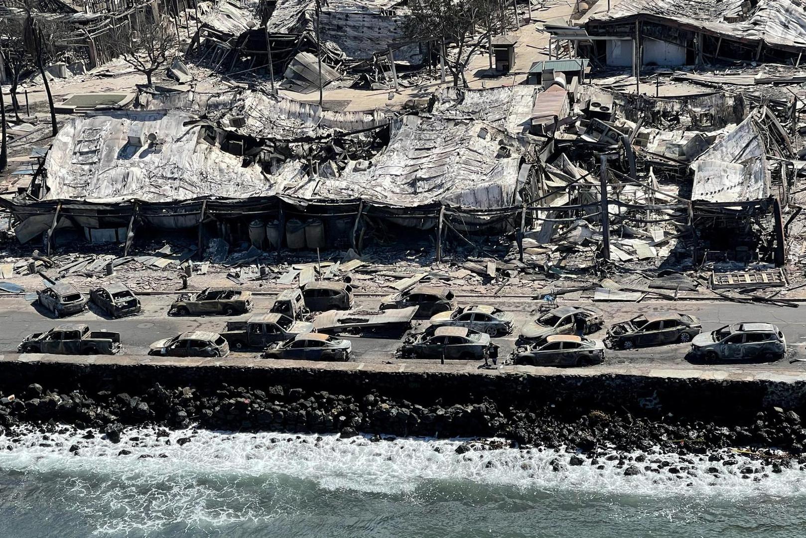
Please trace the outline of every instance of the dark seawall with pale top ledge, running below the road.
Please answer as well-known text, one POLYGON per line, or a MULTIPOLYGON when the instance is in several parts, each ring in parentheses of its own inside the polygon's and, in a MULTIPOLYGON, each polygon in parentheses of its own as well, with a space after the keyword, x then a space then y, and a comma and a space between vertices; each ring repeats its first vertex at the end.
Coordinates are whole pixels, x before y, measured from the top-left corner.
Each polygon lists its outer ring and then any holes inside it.
POLYGON ((38 383, 60 391, 140 394, 159 383, 214 393, 221 386, 265 390, 283 386, 306 394, 362 398, 380 394, 422 406, 464 405, 488 399, 499 406, 629 410, 689 419, 744 419, 757 411, 806 408, 806 375, 762 367, 659 368, 602 365, 588 369, 467 365, 310 363, 260 359, 164 357, 0 357, 0 390, 19 394, 38 383))

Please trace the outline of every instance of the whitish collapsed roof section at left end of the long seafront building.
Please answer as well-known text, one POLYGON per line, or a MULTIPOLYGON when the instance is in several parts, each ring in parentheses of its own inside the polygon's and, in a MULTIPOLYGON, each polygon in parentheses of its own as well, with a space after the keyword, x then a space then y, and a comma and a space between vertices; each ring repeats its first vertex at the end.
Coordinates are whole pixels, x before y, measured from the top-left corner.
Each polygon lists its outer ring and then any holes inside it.
POLYGON ((43 199, 151 202, 198 196, 246 198, 273 194, 260 166, 185 127, 195 116, 180 111, 118 111, 75 118, 45 161, 43 199))

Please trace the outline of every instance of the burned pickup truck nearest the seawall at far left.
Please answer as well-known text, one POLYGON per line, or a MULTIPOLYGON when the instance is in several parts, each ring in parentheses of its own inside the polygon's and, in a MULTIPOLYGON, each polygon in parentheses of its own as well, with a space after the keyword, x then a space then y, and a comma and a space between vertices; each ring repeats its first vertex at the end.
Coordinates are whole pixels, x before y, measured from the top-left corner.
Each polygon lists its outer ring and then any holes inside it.
POLYGON ((120 352, 120 334, 90 331, 87 325, 60 325, 47 332, 35 332, 23 339, 20 353, 58 355, 114 355, 120 352))

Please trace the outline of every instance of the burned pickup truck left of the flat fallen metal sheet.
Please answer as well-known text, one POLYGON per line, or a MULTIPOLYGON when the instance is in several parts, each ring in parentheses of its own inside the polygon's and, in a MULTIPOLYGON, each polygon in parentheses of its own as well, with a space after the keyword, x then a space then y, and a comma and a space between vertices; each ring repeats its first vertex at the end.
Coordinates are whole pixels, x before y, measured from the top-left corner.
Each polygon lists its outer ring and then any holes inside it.
POLYGON ((310 332, 316 332, 314 323, 294 321, 287 315, 268 313, 256 315, 248 321, 228 321, 226 332, 222 332, 221 336, 230 343, 231 349, 263 349, 272 342, 291 340, 310 332))

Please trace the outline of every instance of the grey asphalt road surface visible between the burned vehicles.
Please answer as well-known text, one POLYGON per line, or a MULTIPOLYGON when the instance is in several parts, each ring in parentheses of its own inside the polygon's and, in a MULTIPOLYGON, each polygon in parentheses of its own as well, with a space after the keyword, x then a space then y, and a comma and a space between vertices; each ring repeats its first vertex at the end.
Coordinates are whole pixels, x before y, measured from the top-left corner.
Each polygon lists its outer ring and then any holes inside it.
MULTIPOLYGON (((60 323, 87 323, 93 330, 119 332, 124 352, 129 355, 145 354, 149 344, 169 338, 185 331, 221 332, 226 322, 235 319, 248 319, 256 313, 266 312, 273 302, 270 296, 253 296, 255 310, 242 316, 177 317, 168 316, 172 295, 141 296, 143 312, 123 319, 105 319, 95 311, 84 311, 64 319, 52 319, 48 313, 39 311, 35 304, 21 297, 0 298, 0 352, 16 352, 17 345, 31 332, 46 331, 60 323)), ((511 312, 516 319, 515 326, 521 327, 537 316, 538 302, 513 298, 479 298, 479 302, 490 304, 511 312)), ((356 307, 377 307, 376 298, 356 298, 356 307)), ((460 302, 462 306, 467 300, 460 302)), ((583 304, 561 302, 561 305, 583 304)), ((585 303, 590 304, 590 303, 585 303)), ((775 323, 787 337, 790 352, 786 359, 772 366, 789 366, 788 360, 794 357, 806 358, 806 305, 800 308, 743 305, 735 302, 642 302, 642 303, 596 303, 596 308, 605 312, 605 328, 592 335, 602 338, 609 324, 618 323, 646 311, 678 311, 694 315, 700 319, 704 332, 728 323, 740 321, 765 321, 775 323)), ((418 325, 427 322, 418 322, 418 325)), ((416 330, 417 327, 415 327, 416 330)), ((517 339, 515 334, 495 339, 501 346, 501 357, 509 355, 517 339)), ((400 345, 399 339, 351 337, 355 354, 354 361, 384 362, 394 361, 394 352, 400 345)), ((641 348, 629 351, 610 351, 607 363, 610 364, 650 364, 685 365, 689 344, 675 344, 655 348, 641 348)), ((243 357, 255 357, 256 352, 239 353, 243 357)))

